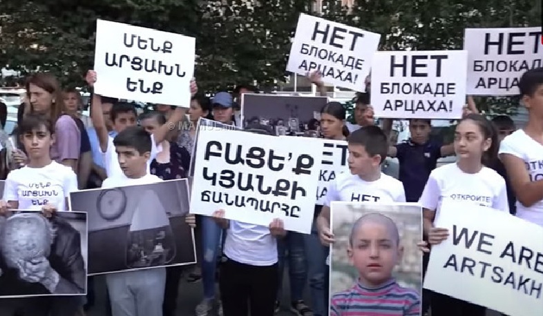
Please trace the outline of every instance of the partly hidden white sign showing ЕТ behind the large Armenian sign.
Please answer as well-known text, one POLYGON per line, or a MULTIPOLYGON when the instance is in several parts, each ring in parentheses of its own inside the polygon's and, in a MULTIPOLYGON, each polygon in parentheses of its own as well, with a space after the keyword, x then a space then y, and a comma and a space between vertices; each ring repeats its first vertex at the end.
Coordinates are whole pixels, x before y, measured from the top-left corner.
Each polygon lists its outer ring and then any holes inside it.
MULTIPOLYGON (((286 136, 283 136, 286 137, 286 136)), ((336 141, 332 139, 318 139, 323 148, 321 155, 321 172, 318 174, 318 186, 316 190, 316 204, 323 205, 324 198, 328 192, 330 182, 336 179, 336 175, 343 172, 350 172, 347 164, 349 151, 347 141, 336 141)))

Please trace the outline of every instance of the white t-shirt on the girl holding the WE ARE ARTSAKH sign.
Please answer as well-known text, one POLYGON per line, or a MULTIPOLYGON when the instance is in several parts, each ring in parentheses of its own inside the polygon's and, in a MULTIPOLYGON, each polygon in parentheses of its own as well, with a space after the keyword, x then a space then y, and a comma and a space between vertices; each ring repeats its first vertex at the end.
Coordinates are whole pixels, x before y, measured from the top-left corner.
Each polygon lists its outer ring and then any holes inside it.
POLYGON ((436 218, 443 201, 466 201, 509 213, 504 178, 490 168, 477 173, 466 173, 457 164, 448 164, 432 170, 422 192, 419 204, 436 210, 436 218))

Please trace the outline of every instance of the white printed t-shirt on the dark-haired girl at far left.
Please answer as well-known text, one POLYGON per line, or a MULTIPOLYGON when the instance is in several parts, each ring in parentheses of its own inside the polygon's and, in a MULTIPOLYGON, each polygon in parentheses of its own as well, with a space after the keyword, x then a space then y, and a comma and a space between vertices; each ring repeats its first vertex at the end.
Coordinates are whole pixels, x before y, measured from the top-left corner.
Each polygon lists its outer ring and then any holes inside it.
POLYGON ((77 176, 69 166, 52 161, 42 168, 25 166, 8 173, 4 201, 19 201, 19 210, 41 210, 46 204, 67 210, 66 198, 77 191, 77 176))

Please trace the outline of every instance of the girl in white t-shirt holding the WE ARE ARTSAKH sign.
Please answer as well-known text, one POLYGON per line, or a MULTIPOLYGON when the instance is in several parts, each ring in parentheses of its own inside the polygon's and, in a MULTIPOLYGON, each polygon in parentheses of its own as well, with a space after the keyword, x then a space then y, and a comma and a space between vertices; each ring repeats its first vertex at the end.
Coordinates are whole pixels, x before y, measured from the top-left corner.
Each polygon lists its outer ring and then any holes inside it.
MULTIPOLYGON (((484 116, 470 114, 461 119, 455 131, 457 162, 433 170, 419 200, 423 207, 424 234, 428 236, 428 243, 419 243, 424 252, 430 252, 428 244, 441 244, 449 237, 446 228, 437 228, 433 223, 446 201, 466 201, 509 212, 504 178, 483 166, 488 158, 495 156, 497 146, 495 129, 484 116), (474 195, 477 198, 471 199, 474 195)), ((439 316, 484 316, 486 313, 483 306, 441 293, 432 293, 430 306, 432 315, 439 316)))

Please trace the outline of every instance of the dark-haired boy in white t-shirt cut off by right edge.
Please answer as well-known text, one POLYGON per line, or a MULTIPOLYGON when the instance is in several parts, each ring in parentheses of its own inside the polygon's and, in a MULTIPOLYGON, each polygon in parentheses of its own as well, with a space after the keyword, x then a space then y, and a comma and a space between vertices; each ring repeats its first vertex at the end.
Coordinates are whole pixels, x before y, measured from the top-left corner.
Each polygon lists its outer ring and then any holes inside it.
POLYGON ((499 146, 513 191, 516 216, 543 226, 543 68, 524 72, 518 83, 528 124, 499 146))

